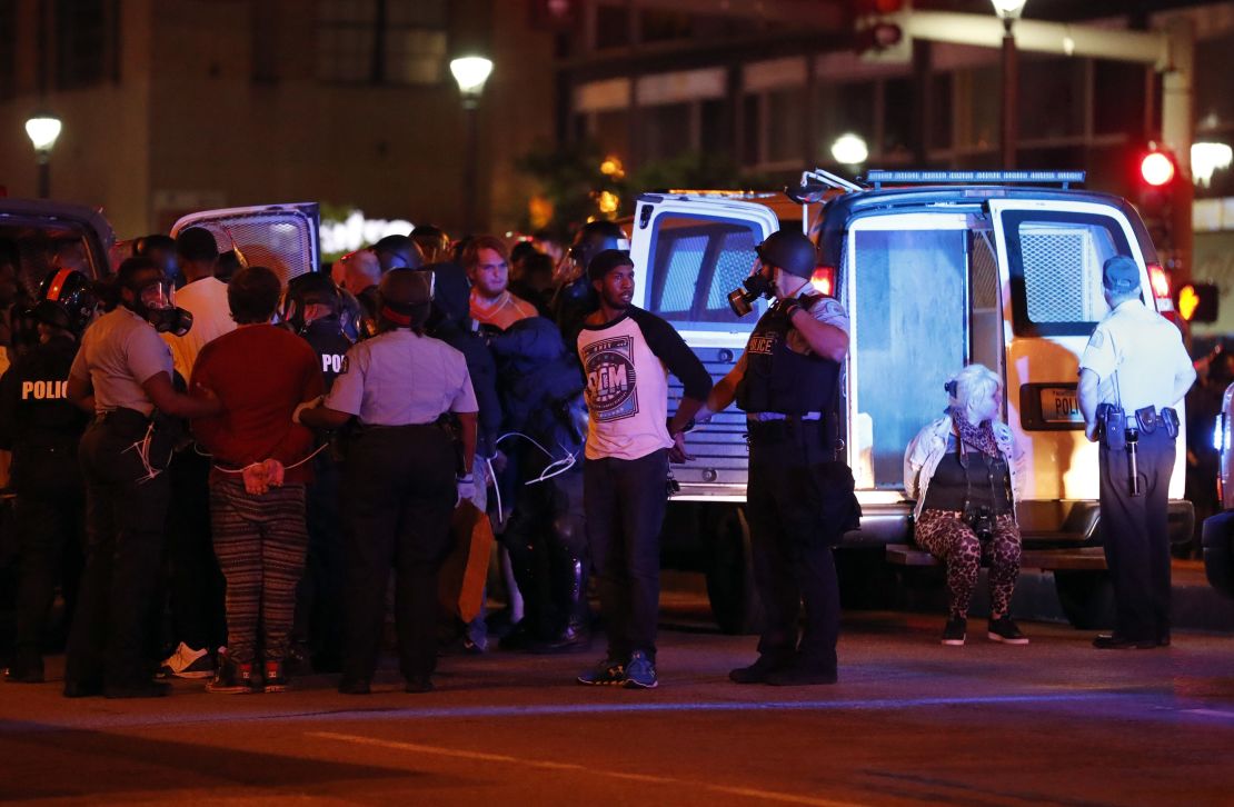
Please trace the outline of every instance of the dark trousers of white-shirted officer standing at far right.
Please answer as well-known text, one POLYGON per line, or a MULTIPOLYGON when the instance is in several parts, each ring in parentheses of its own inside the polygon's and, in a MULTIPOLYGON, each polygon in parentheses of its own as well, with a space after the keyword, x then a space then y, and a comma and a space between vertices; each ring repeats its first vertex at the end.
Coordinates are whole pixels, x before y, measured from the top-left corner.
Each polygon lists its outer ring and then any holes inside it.
POLYGON ((1114 633, 1156 640, 1170 633, 1170 474, 1175 444, 1164 428, 1140 432, 1141 495, 1132 496, 1127 452, 1098 449, 1101 534, 1114 584, 1114 633))

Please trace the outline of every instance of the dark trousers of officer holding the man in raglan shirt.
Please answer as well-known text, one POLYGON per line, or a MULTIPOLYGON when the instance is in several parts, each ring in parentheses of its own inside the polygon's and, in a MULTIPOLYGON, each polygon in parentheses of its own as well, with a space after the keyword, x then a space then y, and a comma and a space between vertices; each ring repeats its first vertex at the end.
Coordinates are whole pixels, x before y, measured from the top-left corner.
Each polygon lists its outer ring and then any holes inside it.
POLYGON ((813 470, 832 460, 823 439, 817 423, 752 424, 745 501, 754 585, 763 603, 759 653, 796 653, 803 666, 830 671, 840 596, 830 542, 821 534, 822 499, 832 491, 818 489, 813 470), (806 623, 798 640, 802 606, 806 623))

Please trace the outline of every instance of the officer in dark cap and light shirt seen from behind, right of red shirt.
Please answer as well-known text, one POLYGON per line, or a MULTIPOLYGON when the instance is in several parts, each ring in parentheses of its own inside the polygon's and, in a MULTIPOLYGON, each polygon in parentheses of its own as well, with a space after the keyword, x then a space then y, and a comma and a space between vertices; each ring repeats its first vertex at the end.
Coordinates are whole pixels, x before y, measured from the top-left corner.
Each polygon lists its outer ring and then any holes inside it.
POLYGON ((347 370, 321 406, 296 411, 315 428, 359 421, 343 468, 343 693, 370 691, 391 564, 405 690, 433 689, 437 576, 452 545, 454 505, 474 492, 478 407, 463 354, 424 336, 431 278, 412 269, 387 271, 378 295, 378 336, 348 352, 347 370), (438 423, 447 412, 462 426, 462 457, 438 423))

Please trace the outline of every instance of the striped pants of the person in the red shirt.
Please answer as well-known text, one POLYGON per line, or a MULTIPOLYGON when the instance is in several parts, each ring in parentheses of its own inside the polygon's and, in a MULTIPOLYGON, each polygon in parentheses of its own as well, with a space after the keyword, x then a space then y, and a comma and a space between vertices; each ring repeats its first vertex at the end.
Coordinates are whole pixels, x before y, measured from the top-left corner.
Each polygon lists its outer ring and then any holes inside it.
POLYGON ((211 482, 210 523, 227 580, 227 653, 239 664, 252 664, 260 624, 263 658, 281 661, 308 548, 305 486, 284 485, 252 496, 238 476, 211 482))

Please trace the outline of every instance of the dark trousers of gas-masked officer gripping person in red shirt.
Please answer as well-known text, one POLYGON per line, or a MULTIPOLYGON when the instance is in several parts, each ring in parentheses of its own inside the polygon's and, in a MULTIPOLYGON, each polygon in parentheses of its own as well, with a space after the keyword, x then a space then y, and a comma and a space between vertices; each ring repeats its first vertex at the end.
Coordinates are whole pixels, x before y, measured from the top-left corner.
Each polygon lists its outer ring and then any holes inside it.
MULTIPOLYGON (((147 478, 133 448, 144 437, 146 418, 118 410, 81 438, 89 543, 65 661, 70 684, 123 687, 151 677, 147 623, 163 560, 168 479, 147 478)), ((162 459, 157 448, 151 453, 162 459)))

